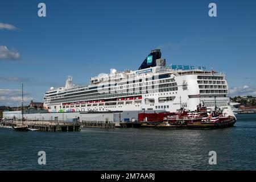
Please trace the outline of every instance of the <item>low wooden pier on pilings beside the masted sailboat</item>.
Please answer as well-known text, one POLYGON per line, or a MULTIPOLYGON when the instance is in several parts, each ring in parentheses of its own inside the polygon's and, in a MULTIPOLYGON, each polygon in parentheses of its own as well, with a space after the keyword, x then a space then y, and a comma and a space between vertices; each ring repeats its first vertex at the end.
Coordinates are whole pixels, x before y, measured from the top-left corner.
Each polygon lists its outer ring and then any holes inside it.
MULTIPOLYGON (((6 121, 3 122, 3 126, 14 127, 20 125, 20 121, 6 121)), ((27 125, 29 129, 35 129, 39 131, 80 131, 80 123, 67 123, 67 122, 55 122, 55 121, 24 121, 24 125, 27 125)))

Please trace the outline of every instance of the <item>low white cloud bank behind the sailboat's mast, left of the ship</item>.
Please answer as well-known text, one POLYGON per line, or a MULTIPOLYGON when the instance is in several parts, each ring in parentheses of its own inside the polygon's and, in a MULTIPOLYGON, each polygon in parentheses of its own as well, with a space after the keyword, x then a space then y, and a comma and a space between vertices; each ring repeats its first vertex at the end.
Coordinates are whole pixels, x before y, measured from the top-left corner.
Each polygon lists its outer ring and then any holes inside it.
MULTIPOLYGON (((27 92, 23 92, 23 101, 30 102, 33 100, 32 97, 26 96, 27 92)), ((19 89, 0 89, 0 106, 17 106, 20 105, 22 101, 22 90, 19 89)))

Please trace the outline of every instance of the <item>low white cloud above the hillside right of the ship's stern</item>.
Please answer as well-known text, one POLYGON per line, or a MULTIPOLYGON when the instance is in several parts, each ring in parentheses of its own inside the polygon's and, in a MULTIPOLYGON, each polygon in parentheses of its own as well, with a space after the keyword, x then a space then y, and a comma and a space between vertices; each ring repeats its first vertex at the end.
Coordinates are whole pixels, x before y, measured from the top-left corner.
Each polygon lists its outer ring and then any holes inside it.
POLYGON ((230 96, 256 96, 256 88, 252 86, 238 86, 229 89, 230 96))

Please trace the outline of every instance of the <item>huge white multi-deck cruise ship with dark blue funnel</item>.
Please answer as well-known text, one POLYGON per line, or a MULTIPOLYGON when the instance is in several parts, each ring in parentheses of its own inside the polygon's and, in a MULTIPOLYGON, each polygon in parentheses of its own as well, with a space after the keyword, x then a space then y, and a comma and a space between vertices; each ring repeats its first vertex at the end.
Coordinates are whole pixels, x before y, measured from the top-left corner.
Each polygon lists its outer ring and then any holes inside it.
POLYGON ((219 107, 234 116, 224 73, 192 65, 166 65, 160 49, 144 59, 138 70, 100 74, 90 84, 72 84, 68 76, 61 88, 51 87, 44 95, 50 113, 90 111, 170 111, 219 107))

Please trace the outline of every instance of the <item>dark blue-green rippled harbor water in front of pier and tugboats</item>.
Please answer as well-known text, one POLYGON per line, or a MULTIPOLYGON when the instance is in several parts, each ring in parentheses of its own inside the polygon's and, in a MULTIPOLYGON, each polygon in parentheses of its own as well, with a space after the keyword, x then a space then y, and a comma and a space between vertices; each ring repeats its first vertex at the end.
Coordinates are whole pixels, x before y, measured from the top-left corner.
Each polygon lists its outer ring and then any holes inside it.
POLYGON ((218 130, 0 129, 0 170, 255 170, 256 114, 218 130), (208 152, 217 152, 209 165, 208 152), (38 164, 46 152, 46 165, 38 164))

